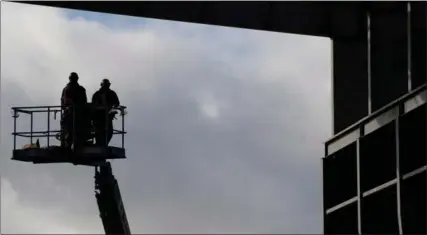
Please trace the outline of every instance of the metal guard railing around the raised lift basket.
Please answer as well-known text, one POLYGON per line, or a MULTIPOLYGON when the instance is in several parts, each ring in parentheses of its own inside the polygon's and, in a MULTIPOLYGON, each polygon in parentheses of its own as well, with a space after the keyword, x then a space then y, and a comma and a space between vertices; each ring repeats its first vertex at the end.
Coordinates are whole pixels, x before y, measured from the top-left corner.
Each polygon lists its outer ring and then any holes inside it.
MULTIPOLYGON (((51 146, 50 139, 56 138, 61 142, 61 145, 63 145, 64 142, 64 128, 62 125, 63 118, 64 118, 64 112, 67 112, 71 110, 72 117, 72 131, 73 131, 73 145, 75 144, 75 137, 76 137, 76 126, 81 125, 82 123, 78 123, 76 120, 76 109, 84 108, 84 110, 81 110, 83 112, 80 112, 78 115, 83 115, 84 118, 86 118, 86 121, 88 122, 86 128, 89 128, 88 133, 89 139, 93 139, 96 135, 94 128, 94 114, 96 111, 104 111, 102 113, 105 113, 105 120, 108 120, 108 118, 116 118, 115 114, 118 114, 119 118, 121 119, 121 130, 114 129, 114 126, 112 128, 112 135, 121 135, 121 147, 124 148, 124 135, 127 133, 125 131, 125 115, 126 115, 126 107, 125 106, 115 106, 111 109, 107 109, 104 106, 94 106, 92 104, 86 104, 86 105, 79 105, 79 106, 32 106, 32 107, 12 107, 12 117, 14 119, 13 121, 13 149, 16 150, 16 144, 17 144, 17 137, 23 137, 23 138, 29 138, 30 144, 34 144, 34 138, 46 138, 47 147, 51 146), (111 114, 114 112, 115 114, 111 114), (46 130, 44 131, 35 131, 34 130, 34 115, 37 113, 46 113, 46 130), (20 117, 20 114, 25 114, 30 116, 30 130, 29 131, 17 131, 17 125, 18 125, 18 118, 20 117), (51 117, 54 117, 54 120, 57 119, 57 116, 59 115, 59 129, 52 129, 52 121, 51 117)), ((108 123, 108 121, 106 121, 108 123)), ((107 133, 107 124, 105 128, 105 132, 107 133)))

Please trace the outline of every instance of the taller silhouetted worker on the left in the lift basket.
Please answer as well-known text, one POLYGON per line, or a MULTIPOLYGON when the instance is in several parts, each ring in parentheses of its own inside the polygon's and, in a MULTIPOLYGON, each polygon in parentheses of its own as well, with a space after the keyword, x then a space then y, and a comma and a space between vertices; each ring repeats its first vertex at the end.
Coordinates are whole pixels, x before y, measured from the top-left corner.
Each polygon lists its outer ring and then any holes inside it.
POLYGON ((69 83, 62 90, 61 105, 65 106, 62 116, 63 146, 74 148, 86 142, 89 129, 88 114, 85 112, 87 104, 86 89, 79 83, 79 76, 72 72, 69 83), (73 113, 74 112, 74 113, 73 113))

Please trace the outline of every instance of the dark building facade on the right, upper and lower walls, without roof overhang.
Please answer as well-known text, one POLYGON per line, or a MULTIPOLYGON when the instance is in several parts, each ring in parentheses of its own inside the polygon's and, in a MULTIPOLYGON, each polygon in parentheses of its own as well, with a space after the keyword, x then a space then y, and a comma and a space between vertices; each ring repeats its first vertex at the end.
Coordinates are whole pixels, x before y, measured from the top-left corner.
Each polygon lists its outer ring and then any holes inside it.
MULTIPOLYGON (((352 42, 360 49, 356 64, 334 62, 335 135, 323 158, 325 234, 427 232, 426 9, 425 2, 375 6, 352 42), (340 77, 351 66, 359 73, 340 77)), ((334 56, 352 50, 346 46, 334 42, 334 56)))

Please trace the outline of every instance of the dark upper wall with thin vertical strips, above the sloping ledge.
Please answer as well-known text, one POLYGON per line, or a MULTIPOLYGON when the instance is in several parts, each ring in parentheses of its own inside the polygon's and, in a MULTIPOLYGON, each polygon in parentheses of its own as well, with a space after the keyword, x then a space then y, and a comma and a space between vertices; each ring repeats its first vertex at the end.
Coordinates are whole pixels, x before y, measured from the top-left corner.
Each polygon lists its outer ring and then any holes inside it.
POLYGON ((334 133, 426 82, 426 2, 371 3, 365 31, 334 38, 334 133))

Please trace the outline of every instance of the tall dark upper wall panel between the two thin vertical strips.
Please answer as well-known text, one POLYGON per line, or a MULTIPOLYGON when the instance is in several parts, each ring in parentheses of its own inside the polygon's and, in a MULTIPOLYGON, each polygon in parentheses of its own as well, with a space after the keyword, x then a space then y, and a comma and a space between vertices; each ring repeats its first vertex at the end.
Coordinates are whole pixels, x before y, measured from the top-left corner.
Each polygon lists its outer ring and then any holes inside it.
POLYGON ((372 111, 408 91, 406 11, 406 4, 400 2, 371 13, 372 111))

